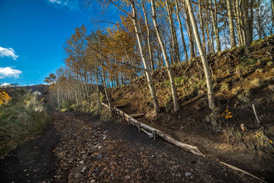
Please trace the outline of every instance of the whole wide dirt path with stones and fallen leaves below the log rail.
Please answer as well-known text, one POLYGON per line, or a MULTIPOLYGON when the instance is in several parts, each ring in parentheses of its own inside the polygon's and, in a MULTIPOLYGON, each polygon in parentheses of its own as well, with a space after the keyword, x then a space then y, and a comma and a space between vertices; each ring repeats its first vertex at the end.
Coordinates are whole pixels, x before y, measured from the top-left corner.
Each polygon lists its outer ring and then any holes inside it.
POLYGON ((161 138, 153 141, 125 121, 102 123, 80 113, 52 119, 41 137, 1 160, 1 182, 258 182, 161 138))

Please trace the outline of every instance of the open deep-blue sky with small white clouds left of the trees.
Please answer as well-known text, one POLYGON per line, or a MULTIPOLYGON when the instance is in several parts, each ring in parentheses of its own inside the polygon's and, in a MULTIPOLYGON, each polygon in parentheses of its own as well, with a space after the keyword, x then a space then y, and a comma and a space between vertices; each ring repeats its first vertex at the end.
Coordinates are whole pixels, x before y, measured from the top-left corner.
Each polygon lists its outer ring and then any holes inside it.
POLYGON ((66 39, 78 25, 88 30, 116 22, 115 8, 86 0, 0 0, 0 84, 43 84, 64 62, 66 39))

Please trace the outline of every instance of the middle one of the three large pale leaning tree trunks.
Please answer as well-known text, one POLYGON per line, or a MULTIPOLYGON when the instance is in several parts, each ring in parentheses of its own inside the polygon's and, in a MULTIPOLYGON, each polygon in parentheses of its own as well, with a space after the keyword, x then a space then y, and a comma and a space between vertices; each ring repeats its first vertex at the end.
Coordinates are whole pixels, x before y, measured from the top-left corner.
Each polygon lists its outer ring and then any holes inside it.
POLYGON ((155 11, 155 1, 154 0, 151 0, 151 8, 152 8, 153 25, 155 27, 155 31, 156 31, 156 34, 157 34, 158 41, 159 41, 160 46, 162 48, 162 53, 164 54, 164 61, 166 63, 166 69, 167 69, 167 72, 169 74, 169 81, 171 82, 171 95, 172 95, 172 98, 173 98, 174 111, 177 111, 177 110, 179 110, 179 105, 178 105, 178 101, 177 101, 177 94, 176 94, 176 88, 175 88, 173 73, 171 71, 169 58, 166 54, 166 48, 164 47, 164 42, 162 41, 162 36, 160 35, 159 29, 158 29, 156 11, 155 11))

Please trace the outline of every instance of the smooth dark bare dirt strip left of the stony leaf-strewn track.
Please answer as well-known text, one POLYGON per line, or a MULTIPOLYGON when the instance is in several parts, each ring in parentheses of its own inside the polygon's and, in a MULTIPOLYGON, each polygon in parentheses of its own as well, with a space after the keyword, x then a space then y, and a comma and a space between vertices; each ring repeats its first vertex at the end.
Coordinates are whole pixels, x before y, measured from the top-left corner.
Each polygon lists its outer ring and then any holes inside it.
POLYGON ((52 149, 60 135, 49 125, 40 137, 27 141, 0 160, 0 182, 43 182, 53 177, 52 149))

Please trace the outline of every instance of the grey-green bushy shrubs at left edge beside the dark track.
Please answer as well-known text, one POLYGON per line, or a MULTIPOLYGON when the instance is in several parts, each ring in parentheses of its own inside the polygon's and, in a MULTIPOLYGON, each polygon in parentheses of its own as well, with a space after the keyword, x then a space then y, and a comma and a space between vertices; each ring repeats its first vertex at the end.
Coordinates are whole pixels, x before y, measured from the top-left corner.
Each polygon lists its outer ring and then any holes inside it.
POLYGON ((38 135, 49 121, 37 95, 23 89, 13 90, 10 95, 9 103, 0 104, 0 156, 38 135))

